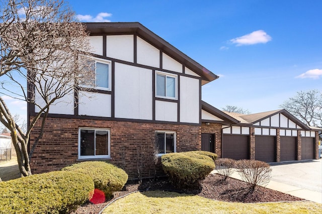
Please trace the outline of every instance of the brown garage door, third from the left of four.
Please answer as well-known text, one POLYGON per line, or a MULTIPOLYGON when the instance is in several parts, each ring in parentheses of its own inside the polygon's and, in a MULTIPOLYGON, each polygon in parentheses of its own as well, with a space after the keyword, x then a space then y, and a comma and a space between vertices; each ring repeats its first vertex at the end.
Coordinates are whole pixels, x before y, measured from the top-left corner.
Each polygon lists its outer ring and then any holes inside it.
POLYGON ((281 161, 297 160, 296 137, 281 137, 281 161))

